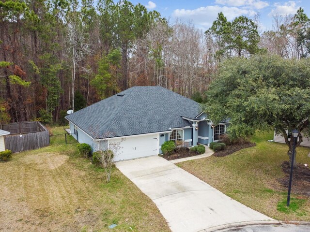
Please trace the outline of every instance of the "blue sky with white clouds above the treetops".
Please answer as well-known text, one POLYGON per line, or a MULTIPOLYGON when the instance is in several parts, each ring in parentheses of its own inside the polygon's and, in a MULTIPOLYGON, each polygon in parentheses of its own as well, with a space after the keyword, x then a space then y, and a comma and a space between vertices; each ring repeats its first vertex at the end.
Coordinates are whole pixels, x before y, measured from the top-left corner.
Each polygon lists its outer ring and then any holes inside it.
POLYGON ((259 13, 262 31, 272 29, 274 14, 295 14, 302 7, 310 17, 310 0, 132 0, 132 3, 141 3, 149 10, 156 10, 170 18, 170 22, 176 18, 192 21, 203 30, 212 25, 219 12, 223 12, 230 21, 240 15, 252 18, 259 13))

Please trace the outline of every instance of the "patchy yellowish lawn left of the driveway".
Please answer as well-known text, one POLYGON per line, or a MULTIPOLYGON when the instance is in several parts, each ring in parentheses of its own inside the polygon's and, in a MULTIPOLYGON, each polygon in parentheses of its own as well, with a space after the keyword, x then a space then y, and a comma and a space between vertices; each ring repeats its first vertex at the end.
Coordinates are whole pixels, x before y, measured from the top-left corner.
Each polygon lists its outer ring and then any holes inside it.
POLYGON ((0 162, 0 231, 170 231, 152 200, 116 168, 105 180, 76 145, 14 154, 0 162))

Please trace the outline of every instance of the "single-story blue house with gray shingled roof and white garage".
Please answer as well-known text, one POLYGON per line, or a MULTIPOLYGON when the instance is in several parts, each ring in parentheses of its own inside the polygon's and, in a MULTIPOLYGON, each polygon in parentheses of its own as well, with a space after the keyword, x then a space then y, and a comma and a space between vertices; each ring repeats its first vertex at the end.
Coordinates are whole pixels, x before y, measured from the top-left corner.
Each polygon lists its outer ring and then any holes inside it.
POLYGON ((158 86, 131 87, 65 118, 78 142, 93 151, 121 143, 114 161, 158 155, 168 140, 209 145, 229 125, 213 125, 198 102, 158 86))

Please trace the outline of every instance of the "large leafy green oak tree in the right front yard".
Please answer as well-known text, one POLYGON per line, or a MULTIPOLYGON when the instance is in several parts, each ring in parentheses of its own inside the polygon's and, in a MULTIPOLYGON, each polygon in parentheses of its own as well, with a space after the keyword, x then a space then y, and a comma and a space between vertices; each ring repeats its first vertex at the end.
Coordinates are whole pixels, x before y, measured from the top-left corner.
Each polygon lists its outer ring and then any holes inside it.
POLYGON ((294 140, 287 131, 299 131, 296 147, 310 137, 309 77, 309 59, 265 55, 228 59, 211 83, 204 107, 215 123, 231 119, 232 138, 275 130, 284 137, 291 160, 294 140))

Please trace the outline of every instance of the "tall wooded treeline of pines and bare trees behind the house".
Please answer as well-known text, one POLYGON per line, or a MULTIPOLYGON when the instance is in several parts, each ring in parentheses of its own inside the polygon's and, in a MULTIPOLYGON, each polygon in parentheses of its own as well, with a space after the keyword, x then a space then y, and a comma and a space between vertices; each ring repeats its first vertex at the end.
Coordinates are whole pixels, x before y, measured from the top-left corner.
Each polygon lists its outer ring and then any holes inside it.
POLYGON ((0 121, 63 122, 77 111, 135 85, 160 85, 202 100, 224 59, 273 53, 307 58, 310 21, 299 9, 227 21, 218 14, 205 32, 170 23, 127 0, 1 0, 0 121))

